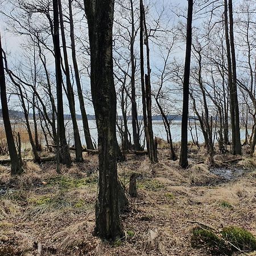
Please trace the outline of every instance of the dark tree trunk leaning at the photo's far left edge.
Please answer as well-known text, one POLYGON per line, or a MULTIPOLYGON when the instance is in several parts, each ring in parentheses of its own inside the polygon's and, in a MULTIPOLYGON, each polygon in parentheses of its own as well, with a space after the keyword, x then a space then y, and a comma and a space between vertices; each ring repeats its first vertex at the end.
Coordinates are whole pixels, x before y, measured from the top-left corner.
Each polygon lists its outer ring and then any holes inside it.
POLYGON ((21 174, 22 173, 22 162, 19 159, 18 153, 16 151, 13 131, 11 129, 11 122, 9 117, 9 110, 7 105, 6 96, 6 83, 5 83, 5 69, 3 68, 3 53, 2 53, 2 43, 0 34, 0 93, 1 93, 1 105, 2 105, 2 117, 3 125, 5 126, 6 140, 8 144, 8 150, 11 159, 11 174, 21 174))

